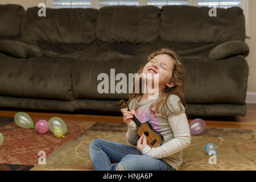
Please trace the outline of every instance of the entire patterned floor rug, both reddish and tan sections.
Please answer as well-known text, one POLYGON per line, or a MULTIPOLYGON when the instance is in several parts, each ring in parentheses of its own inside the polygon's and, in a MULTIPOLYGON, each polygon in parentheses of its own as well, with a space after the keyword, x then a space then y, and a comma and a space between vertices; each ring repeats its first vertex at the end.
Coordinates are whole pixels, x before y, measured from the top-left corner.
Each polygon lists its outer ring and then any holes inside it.
MULTIPOLYGON (((125 138, 125 123, 65 121, 68 126, 67 138, 56 138, 51 133, 42 135, 34 130, 20 129, 13 121, 3 126, 1 119, 0 133, 7 137, 0 146, 0 163, 32 164, 34 167, 30 170, 34 171, 93 170, 89 145, 94 139, 129 144, 125 138), (40 150, 46 151, 46 164, 38 164, 40 150)), ((183 150, 183 163, 179 170, 255 171, 255 134, 255 130, 207 127, 203 134, 192 136, 191 145, 183 150), (209 164, 211 156, 205 153, 208 143, 214 143, 217 147, 216 164, 209 164)))

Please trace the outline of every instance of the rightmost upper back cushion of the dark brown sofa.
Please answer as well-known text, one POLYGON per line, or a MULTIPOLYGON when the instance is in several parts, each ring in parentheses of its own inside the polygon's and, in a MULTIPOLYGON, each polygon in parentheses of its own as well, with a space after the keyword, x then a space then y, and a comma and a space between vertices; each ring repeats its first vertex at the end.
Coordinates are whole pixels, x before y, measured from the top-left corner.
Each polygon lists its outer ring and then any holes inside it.
POLYGON ((210 7, 163 6, 159 35, 163 40, 191 43, 216 43, 245 40, 245 16, 240 7, 217 8, 217 16, 209 16, 210 7))

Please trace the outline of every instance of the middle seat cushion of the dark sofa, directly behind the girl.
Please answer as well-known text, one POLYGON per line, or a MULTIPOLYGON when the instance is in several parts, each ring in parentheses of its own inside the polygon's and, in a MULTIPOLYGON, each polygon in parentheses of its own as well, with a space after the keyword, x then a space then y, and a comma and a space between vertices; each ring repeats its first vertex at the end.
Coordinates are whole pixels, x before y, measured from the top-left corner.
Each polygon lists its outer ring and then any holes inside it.
MULTIPOLYGON (((110 85, 110 80, 114 85, 117 85, 120 80, 115 80, 118 73, 125 73, 127 77, 127 85, 129 83, 128 73, 137 73, 141 64, 138 64, 138 59, 112 59, 77 62, 73 69, 73 92, 75 98, 95 98, 105 100, 119 100, 127 98, 127 93, 117 93, 115 86, 110 85), (114 69, 114 76, 110 76, 110 69, 114 69), (100 93, 102 87, 98 90, 98 85, 105 79, 97 80, 98 75, 105 73, 109 79, 108 93, 100 93), (112 92, 114 89, 114 93, 112 92)), ((113 73, 113 72, 112 72, 113 73)), ((127 92, 128 92, 127 86, 127 92)))

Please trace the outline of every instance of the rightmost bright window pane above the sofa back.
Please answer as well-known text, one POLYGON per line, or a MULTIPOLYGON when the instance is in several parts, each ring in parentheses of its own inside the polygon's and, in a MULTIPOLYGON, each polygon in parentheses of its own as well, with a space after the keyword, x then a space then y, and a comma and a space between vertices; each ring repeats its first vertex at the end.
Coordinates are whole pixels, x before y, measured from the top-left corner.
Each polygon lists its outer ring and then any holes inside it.
POLYGON ((239 1, 232 1, 232 0, 199 0, 198 6, 208 6, 208 7, 221 7, 221 8, 228 8, 233 6, 241 6, 241 0, 239 1))

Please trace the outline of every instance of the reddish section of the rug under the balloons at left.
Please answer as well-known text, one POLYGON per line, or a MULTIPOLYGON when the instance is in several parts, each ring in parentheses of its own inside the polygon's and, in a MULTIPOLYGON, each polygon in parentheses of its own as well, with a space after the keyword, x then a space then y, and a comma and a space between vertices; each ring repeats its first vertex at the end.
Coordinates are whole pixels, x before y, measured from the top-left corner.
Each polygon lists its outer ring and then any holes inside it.
MULTIPOLYGON (((33 119, 34 124, 39 119, 33 119)), ((96 122, 65 121, 67 135, 57 138, 49 130, 40 134, 35 129, 18 127, 14 118, 0 118, 0 133, 4 140, 0 146, 0 164, 35 165, 38 164, 39 151, 44 151, 46 157, 65 143, 70 142, 96 122)))

